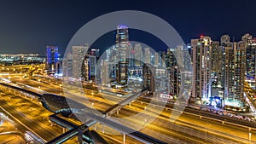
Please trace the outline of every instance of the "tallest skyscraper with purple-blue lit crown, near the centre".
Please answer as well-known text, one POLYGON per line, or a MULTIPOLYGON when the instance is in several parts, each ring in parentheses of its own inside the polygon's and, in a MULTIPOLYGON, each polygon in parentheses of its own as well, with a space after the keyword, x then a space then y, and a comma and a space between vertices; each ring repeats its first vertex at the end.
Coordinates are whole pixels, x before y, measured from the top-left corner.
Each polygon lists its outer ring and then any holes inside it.
POLYGON ((127 26, 117 26, 116 46, 118 49, 117 66, 116 66, 116 82, 125 85, 128 80, 128 46, 129 35, 127 26))

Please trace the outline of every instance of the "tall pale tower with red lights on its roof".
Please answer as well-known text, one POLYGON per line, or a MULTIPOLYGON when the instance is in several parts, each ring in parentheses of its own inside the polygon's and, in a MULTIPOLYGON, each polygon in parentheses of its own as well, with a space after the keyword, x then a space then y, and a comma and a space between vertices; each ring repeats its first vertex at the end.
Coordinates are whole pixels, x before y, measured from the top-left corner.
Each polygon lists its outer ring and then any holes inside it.
POLYGON ((201 36, 199 39, 192 39, 193 51, 193 89, 190 101, 208 101, 211 97, 211 47, 210 37, 201 36))

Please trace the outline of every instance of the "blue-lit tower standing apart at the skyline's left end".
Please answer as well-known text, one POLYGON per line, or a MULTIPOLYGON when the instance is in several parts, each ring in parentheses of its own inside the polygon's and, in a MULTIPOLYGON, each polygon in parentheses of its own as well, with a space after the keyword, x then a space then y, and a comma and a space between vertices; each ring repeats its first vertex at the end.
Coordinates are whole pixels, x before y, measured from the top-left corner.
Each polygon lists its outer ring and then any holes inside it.
POLYGON ((46 46, 46 69, 54 73, 59 61, 59 49, 55 46, 46 46))

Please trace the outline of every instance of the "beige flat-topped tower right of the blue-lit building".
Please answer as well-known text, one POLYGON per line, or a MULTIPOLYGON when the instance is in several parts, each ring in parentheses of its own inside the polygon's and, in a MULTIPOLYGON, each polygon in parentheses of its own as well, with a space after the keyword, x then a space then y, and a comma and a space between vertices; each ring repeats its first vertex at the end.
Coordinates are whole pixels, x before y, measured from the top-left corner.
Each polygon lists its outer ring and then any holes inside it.
POLYGON ((82 64, 84 63, 84 55, 89 49, 89 44, 85 46, 73 46, 73 78, 82 77, 82 64))

